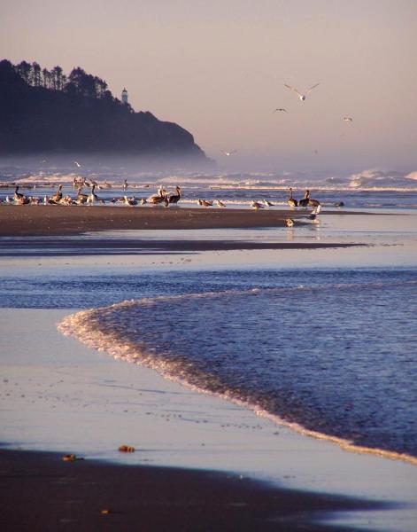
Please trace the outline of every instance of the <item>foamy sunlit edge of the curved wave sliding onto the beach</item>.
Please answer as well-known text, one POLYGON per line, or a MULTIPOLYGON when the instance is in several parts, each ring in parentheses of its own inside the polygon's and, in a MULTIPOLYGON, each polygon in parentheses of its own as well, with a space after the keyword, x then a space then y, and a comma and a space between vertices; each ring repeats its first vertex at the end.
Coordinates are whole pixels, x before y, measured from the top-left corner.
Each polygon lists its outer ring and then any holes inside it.
MULTIPOLYGON (((416 286, 417 282, 409 281, 402 283, 391 283, 391 287, 397 289, 398 286, 404 286, 405 290, 409 290, 410 286, 416 286)), ((374 283, 372 286, 367 286, 370 290, 379 290, 382 287, 387 287, 383 283, 374 283)), ((128 363, 140 364, 149 367, 164 378, 174 380, 181 383, 181 385, 189 387, 199 393, 211 394, 220 396, 221 398, 239 404, 245 408, 249 408, 257 415, 271 419, 274 423, 282 426, 287 426, 300 434, 313 436, 328 442, 334 442, 344 450, 351 450, 361 453, 369 453, 377 456, 399 459, 405 462, 417 465, 417 458, 408 453, 398 452, 396 450, 382 449, 377 446, 360 445, 353 442, 349 438, 344 438, 331 434, 330 431, 320 432, 320 430, 312 430, 311 428, 295 421, 294 419, 286 419, 286 416, 278 415, 275 411, 271 411, 265 407, 265 404, 256 401, 253 395, 245 396, 241 389, 234 389, 228 387, 221 381, 218 375, 212 376, 210 380, 202 374, 201 368, 194 364, 192 360, 184 360, 183 356, 178 356, 176 353, 170 351, 166 344, 153 344, 149 340, 129 340, 127 337, 123 338, 120 335, 119 329, 112 329, 112 327, 105 327, 104 324, 112 323, 112 317, 115 315, 127 316, 131 309, 135 312, 146 312, 151 310, 151 313, 156 315, 158 313, 158 305, 163 305, 164 308, 169 307, 173 303, 181 303, 189 301, 198 302, 198 307, 201 308, 203 301, 211 298, 224 298, 225 296, 251 296, 251 295, 271 295, 271 294, 285 294, 290 293, 317 293, 319 288, 311 289, 305 286, 296 286, 293 288, 270 288, 270 289, 252 289, 247 291, 225 291, 222 293, 198 293, 191 295, 180 296, 160 296, 157 298, 145 298, 135 301, 122 301, 120 303, 103 307, 100 309, 83 310, 76 314, 66 317, 59 325, 58 330, 65 335, 72 335, 90 348, 95 348, 99 351, 106 351, 115 359, 120 359, 128 363), (104 319, 107 317, 107 319, 104 319)), ((363 291, 364 287, 357 285, 337 285, 332 286, 329 291, 351 291, 356 289, 357 293, 363 291)), ((210 304, 210 301, 209 301, 210 304)), ((139 314, 140 317, 140 314, 139 314)), ((140 322, 138 316, 136 319, 140 322)), ((124 318, 121 317, 123 320, 124 318)), ((158 328, 158 325, 156 325, 158 328)))

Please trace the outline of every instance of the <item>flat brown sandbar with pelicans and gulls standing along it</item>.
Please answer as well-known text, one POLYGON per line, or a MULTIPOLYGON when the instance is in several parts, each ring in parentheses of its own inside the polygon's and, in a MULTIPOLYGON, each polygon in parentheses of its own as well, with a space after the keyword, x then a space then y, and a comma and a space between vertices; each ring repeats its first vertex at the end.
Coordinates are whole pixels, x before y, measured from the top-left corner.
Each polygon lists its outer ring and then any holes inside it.
POLYGON ((305 223, 306 214, 268 209, 0 205, 0 236, 74 235, 126 229, 284 227, 289 216, 296 223, 305 223))

